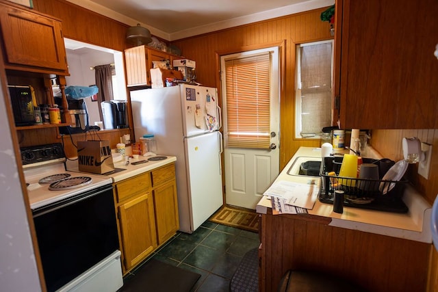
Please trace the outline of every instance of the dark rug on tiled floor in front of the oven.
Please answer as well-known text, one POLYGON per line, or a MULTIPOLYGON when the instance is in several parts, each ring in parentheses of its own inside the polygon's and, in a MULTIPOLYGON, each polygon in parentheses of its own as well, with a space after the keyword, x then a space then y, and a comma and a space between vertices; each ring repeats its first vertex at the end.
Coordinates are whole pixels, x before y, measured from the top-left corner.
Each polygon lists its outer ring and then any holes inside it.
POLYGON ((201 277, 180 267, 151 259, 127 279, 119 292, 189 292, 201 277))

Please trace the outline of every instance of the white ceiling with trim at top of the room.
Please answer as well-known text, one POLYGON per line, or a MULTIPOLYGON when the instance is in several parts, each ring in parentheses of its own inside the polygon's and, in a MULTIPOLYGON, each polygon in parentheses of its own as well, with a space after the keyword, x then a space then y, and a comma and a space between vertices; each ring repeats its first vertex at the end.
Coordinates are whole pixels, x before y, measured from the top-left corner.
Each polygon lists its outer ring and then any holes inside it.
POLYGON ((333 5, 335 0, 68 0, 151 34, 177 40, 333 5))

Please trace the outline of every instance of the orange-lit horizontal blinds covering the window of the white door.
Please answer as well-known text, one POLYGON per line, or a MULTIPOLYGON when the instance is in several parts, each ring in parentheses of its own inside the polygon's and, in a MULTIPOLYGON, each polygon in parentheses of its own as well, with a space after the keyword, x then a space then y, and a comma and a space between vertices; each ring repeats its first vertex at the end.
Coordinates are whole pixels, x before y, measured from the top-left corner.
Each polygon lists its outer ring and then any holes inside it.
POLYGON ((225 61, 227 146, 269 148, 271 54, 225 61))

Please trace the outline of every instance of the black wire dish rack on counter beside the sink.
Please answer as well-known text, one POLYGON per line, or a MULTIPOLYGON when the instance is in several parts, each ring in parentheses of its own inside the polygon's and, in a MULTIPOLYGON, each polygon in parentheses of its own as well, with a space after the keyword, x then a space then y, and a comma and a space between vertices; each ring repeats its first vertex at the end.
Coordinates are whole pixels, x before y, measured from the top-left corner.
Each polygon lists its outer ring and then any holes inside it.
MULTIPOLYGON (((409 211, 402 200, 405 184, 408 181, 383 181, 363 178, 349 178, 339 175, 344 157, 324 157, 320 176, 322 185, 318 200, 333 204, 335 191, 344 191, 344 206, 391 213, 407 213, 409 211), (329 173, 335 175, 329 175, 329 173), (391 190, 389 190, 391 189, 391 190), (389 190, 384 194, 384 190, 389 190)), ((363 158, 363 163, 378 163, 376 159, 363 158)), ((383 175, 382 175, 383 176, 383 175)))

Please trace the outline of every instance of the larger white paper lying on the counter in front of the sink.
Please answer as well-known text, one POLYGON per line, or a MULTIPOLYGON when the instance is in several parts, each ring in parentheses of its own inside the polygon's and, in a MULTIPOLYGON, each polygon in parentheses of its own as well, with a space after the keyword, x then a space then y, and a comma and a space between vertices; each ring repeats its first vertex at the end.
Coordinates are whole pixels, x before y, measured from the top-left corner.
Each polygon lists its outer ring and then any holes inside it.
POLYGON ((263 195, 271 198, 281 198, 286 204, 312 209, 318 198, 319 187, 315 184, 277 181, 263 195))

